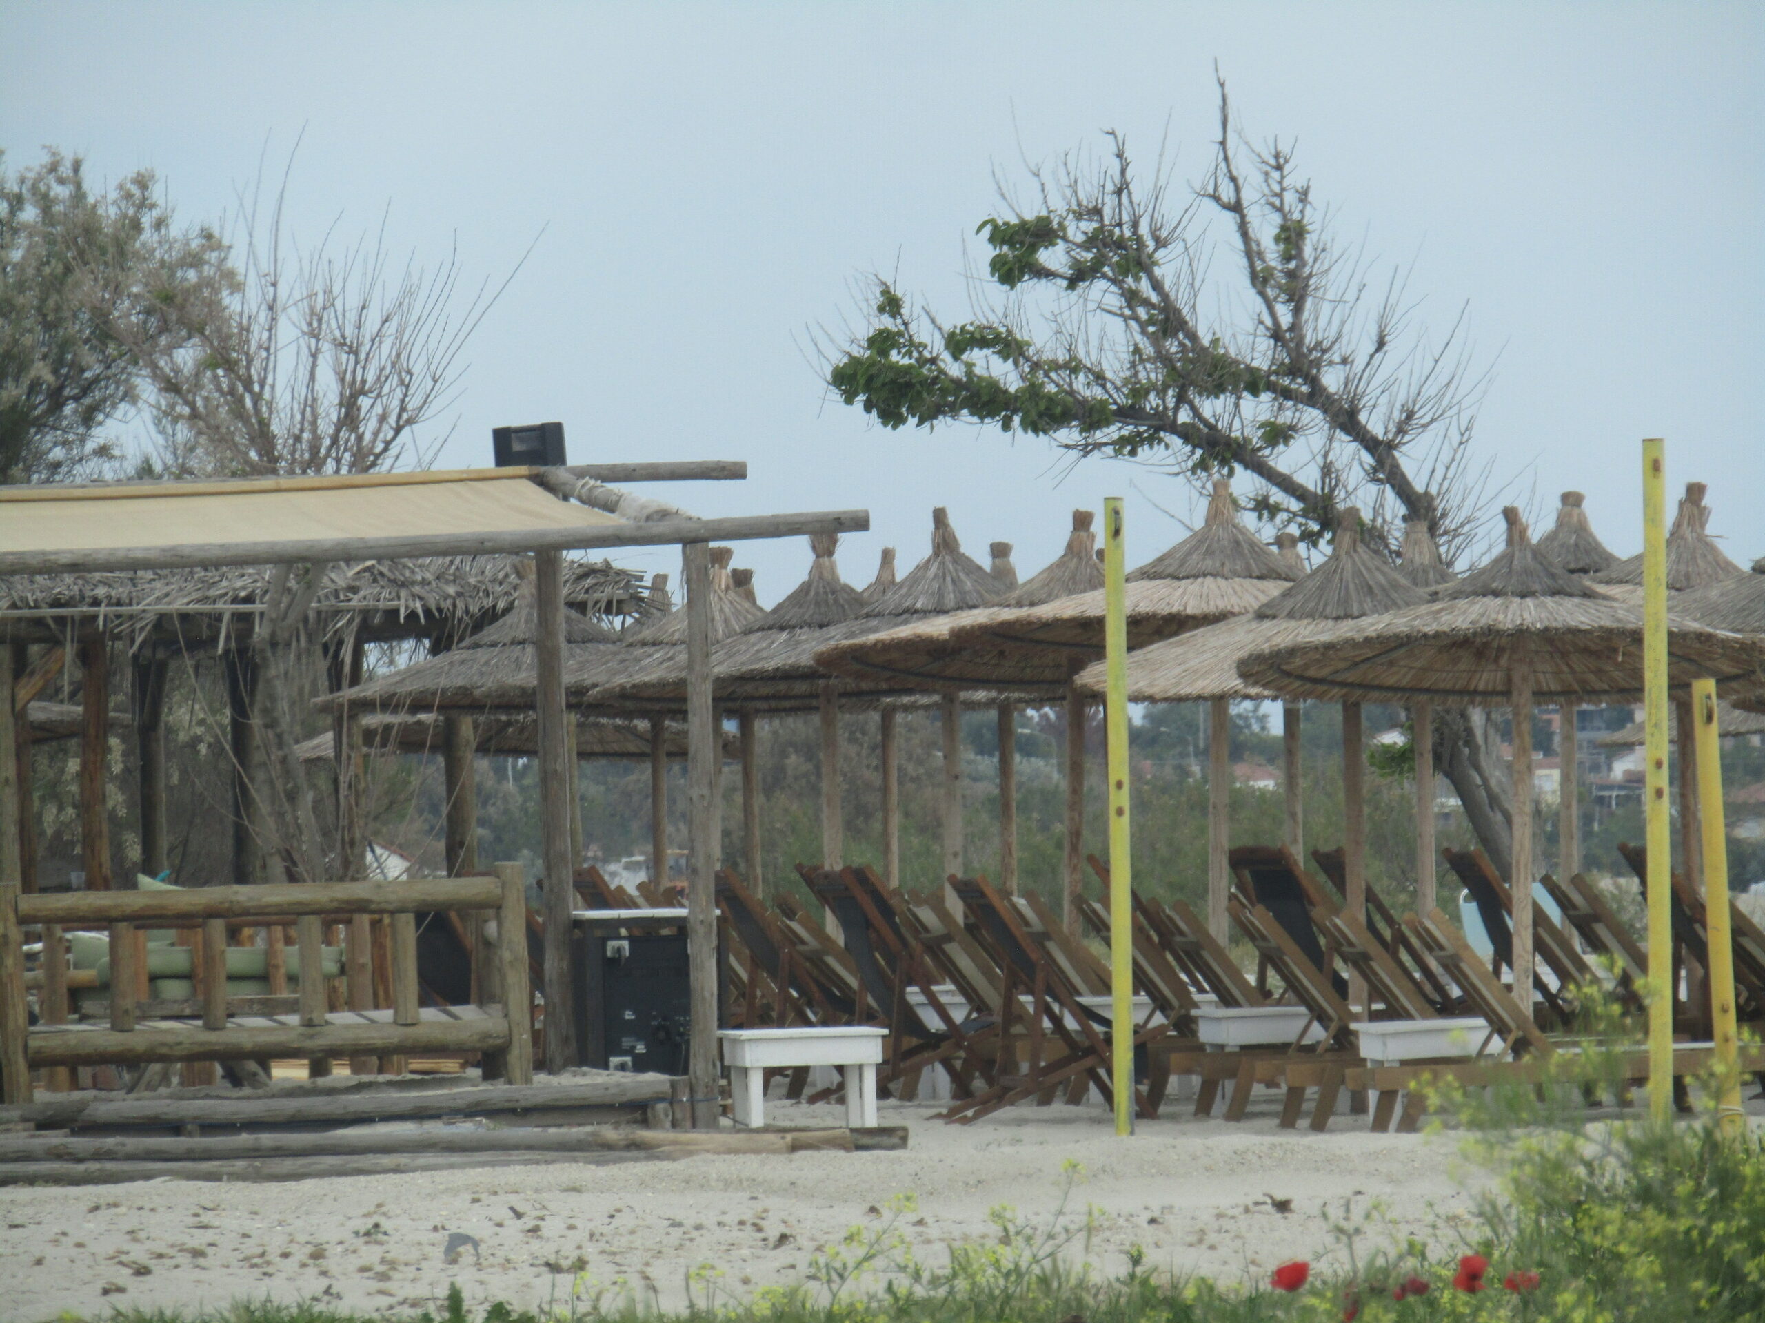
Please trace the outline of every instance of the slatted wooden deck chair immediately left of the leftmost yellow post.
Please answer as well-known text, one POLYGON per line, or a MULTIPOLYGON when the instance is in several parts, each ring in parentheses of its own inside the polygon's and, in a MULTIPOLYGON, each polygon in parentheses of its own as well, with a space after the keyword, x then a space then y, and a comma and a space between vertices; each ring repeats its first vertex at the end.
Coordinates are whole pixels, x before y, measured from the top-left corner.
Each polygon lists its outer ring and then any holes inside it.
MULTIPOLYGON (((1089 1078, 1105 1102, 1112 1102, 1110 1043, 1100 1028, 1098 1016, 1078 1000, 1084 993, 1068 981, 1059 961, 1050 960, 1036 938, 1029 935, 1017 907, 999 896, 985 877, 951 877, 950 887, 974 919, 981 946, 994 954, 1004 974, 1006 995, 1001 1009, 1004 1013, 1015 1009, 1020 984, 1029 991, 1031 1050, 1025 1078, 999 1080, 992 1088, 948 1108, 943 1113, 944 1118, 960 1124, 974 1122, 999 1108, 1047 1094, 1075 1078, 1089 1078), (1041 1050, 1045 1037, 1061 1044, 1057 1055, 1045 1057, 1041 1050)), ((1165 1032, 1165 1025, 1130 1027, 1135 1048, 1161 1037, 1165 1032)), ((1154 1115, 1145 1092, 1138 1087, 1135 1088, 1135 1104, 1142 1117, 1154 1115)))

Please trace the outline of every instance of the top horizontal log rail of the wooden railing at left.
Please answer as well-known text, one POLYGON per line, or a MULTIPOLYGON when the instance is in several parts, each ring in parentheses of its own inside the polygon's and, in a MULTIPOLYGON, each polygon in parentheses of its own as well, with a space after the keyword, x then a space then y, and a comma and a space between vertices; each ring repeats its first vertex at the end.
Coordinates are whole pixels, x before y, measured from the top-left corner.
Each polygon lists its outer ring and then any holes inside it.
POLYGON ((19 901, 19 921, 78 926, 94 919, 231 919, 302 914, 397 914, 415 910, 492 910, 503 903, 494 877, 418 882, 286 882, 275 887, 192 887, 189 891, 113 891, 108 896, 41 894, 19 901))

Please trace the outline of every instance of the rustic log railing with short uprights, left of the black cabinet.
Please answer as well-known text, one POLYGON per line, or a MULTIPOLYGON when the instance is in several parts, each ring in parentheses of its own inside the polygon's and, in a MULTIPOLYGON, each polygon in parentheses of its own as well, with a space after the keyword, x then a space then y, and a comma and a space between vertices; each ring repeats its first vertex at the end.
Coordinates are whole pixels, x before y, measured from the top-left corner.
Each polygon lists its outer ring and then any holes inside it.
MULTIPOLYGON (((365 937, 349 923, 346 944, 365 937)), ((349 951, 346 963, 365 953, 349 951)), ((485 1074, 531 1083, 533 1037, 528 984, 526 893, 519 864, 498 864, 492 877, 424 882, 319 882, 309 886, 192 887, 187 891, 86 891, 23 896, 0 887, 0 1078, 5 1102, 32 1101, 30 1071, 56 1065, 134 1065, 238 1058, 319 1058, 436 1051, 485 1053, 485 1074), (417 914, 454 910, 496 919, 471 923, 473 960, 487 1014, 424 1018, 417 981, 417 914), (392 1014, 362 1023, 360 1014, 327 1014, 323 926, 387 916, 392 935, 392 1014), (300 953, 298 1025, 228 1023, 228 928, 295 923, 300 953), (67 931, 108 931, 111 954, 109 1027, 26 1027, 25 928, 41 926, 44 960, 41 1004, 67 1004, 67 931), (138 1027, 141 947, 136 928, 194 928, 192 961, 201 1023, 138 1027)), ((60 1018, 60 1016, 56 1016, 60 1018)))

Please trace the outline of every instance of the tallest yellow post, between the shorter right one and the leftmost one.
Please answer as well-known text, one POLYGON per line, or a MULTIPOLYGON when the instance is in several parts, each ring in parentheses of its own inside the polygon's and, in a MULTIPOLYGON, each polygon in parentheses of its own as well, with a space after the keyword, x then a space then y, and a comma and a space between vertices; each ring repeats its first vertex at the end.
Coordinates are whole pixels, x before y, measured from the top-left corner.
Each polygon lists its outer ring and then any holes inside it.
MULTIPOLYGON (((1643 441, 1643 808, 1649 843, 1649 1115, 1673 1115, 1673 836, 1666 799, 1666 445, 1643 441)), ((1684 771, 1680 773, 1684 774, 1684 771)))

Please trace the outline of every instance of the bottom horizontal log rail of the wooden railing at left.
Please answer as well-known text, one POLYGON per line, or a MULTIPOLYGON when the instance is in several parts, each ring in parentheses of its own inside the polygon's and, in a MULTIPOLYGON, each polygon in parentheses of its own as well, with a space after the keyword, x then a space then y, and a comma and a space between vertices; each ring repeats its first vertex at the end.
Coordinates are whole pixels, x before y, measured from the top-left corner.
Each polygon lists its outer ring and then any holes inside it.
MULTIPOLYGON (((116 1023, 115 1018, 111 1023, 116 1023)), ((297 1025, 231 1028, 65 1030, 30 1037, 32 1065, 138 1065, 235 1057, 348 1057, 351 1053, 484 1051, 508 1046, 508 1021, 436 1020, 420 1025, 297 1025)))

